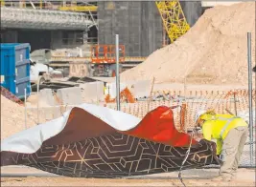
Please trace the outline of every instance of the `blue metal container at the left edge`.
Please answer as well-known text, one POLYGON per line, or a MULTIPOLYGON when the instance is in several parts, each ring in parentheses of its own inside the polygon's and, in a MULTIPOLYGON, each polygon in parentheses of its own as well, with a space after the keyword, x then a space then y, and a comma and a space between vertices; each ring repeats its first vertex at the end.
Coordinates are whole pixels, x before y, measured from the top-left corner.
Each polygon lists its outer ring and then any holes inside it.
POLYGON ((31 94, 30 44, 1 44, 1 86, 18 98, 31 94))

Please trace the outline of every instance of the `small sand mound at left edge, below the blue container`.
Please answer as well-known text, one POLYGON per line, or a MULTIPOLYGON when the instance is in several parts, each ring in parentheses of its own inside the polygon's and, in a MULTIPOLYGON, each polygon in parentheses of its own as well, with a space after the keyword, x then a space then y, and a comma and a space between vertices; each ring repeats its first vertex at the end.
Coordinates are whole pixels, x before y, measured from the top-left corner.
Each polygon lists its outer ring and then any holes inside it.
MULTIPOLYGON (((27 114, 27 127, 33 126, 35 126, 34 117, 27 114)), ((1 140, 24 129, 24 107, 1 95, 1 140)))

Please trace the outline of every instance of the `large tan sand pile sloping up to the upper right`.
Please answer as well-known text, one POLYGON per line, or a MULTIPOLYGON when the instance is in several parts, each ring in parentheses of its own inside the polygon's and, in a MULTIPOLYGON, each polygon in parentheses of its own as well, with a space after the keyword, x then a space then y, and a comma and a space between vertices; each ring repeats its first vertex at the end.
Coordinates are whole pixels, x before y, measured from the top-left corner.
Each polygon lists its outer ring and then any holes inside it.
POLYGON ((156 83, 247 84, 246 32, 252 34, 255 63, 255 3, 209 10, 174 44, 151 53, 146 61, 121 74, 121 81, 156 83))

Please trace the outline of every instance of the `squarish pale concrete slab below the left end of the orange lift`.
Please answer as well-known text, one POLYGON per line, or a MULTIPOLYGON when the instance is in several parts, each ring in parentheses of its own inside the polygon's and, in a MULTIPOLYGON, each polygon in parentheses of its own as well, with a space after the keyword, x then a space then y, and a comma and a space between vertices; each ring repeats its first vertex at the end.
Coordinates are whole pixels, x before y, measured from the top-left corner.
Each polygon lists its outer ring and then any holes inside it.
POLYGON ((81 97, 84 102, 96 103, 104 101, 104 82, 89 82, 80 85, 81 97))

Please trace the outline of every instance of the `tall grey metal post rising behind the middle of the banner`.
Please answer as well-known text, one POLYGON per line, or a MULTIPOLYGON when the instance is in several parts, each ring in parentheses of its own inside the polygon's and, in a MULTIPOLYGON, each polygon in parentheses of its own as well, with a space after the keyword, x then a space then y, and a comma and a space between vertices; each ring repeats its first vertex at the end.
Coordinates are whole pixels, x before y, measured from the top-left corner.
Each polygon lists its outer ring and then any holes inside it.
POLYGON ((116 34, 116 105, 120 111, 119 34, 116 34))

